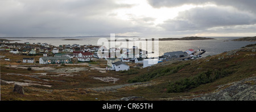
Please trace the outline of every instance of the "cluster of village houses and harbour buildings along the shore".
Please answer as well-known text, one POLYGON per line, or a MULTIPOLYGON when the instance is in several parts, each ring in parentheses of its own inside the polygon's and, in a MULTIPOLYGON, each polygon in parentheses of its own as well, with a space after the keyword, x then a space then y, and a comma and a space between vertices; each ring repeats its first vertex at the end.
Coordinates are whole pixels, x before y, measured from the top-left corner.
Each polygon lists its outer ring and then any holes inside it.
MULTIPOLYGON (((93 63, 96 60, 101 60, 101 64, 105 65, 104 70, 129 70, 130 67, 146 68, 152 65, 161 63, 163 61, 170 60, 189 60, 201 57, 205 52, 204 49, 195 51, 194 49, 188 49, 187 51, 174 51, 166 52, 163 56, 147 57, 147 51, 139 49, 139 56, 135 56, 135 50, 138 47, 122 48, 125 51, 120 51, 119 48, 110 48, 108 51, 104 51, 105 46, 96 46, 91 44, 79 45, 79 44, 64 44, 58 47, 48 43, 10 43, 1 41, 0 52, 4 54, 11 54, 9 56, 1 56, 1 61, 14 61, 24 67, 38 67, 40 65, 52 65, 52 64, 77 64, 77 63, 93 63), (109 56, 98 57, 97 53, 107 53, 109 56), (122 52, 120 58, 110 57, 110 53, 122 52), (125 55, 123 55, 125 54, 125 55), (132 55, 132 58, 129 58, 132 55), (146 58, 142 58, 142 55, 146 58), (14 56, 22 56, 22 60, 16 59, 14 56), (37 58, 35 58, 37 57, 37 58)), ((9 64, 11 67, 11 64, 9 64)), ((101 66, 103 68, 104 66, 101 66)))

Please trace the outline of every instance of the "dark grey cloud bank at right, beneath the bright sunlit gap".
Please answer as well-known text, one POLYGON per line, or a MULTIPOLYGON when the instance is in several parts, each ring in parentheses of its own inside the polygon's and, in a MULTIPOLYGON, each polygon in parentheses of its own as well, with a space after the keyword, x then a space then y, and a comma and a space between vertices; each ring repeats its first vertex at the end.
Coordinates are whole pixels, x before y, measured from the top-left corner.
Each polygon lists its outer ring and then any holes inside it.
POLYGON ((204 30, 219 26, 239 26, 255 24, 253 14, 242 11, 233 11, 225 7, 197 7, 182 11, 175 19, 159 24, 166 30, 204 30))

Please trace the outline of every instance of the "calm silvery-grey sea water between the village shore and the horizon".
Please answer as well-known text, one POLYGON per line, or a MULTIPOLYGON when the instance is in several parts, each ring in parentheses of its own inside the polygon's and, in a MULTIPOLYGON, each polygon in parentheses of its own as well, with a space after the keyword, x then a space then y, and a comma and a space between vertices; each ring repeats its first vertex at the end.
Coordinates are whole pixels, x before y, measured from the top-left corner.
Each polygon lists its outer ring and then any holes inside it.
MULTIPOLYGON (((166 52, 172 51, 186 51, 187 49, 205 49, 205 53, 202 55, 217 55, 225 51, 231 51, 233 49, 238 49, 244 47, 248 44, 255 44, 256 42, 238 42, 232 41, 233 39, 238 39, 241 37, 209 37, 214 38, 212 40, 170 40, 170 41, 159 41, 159 56, 162 56, 166 52)), ((48 43, 51 45, 59 46, 63 44, 92 44, 98 45, 98 39, 100 38, 81 38, 81 37, 64 37, 64 38, 4 38, 9 40, 20 40, 15 41, 18 43, 30 42, 32 43, 48 43), (79 40, 64 40, 64 39, 79 39, 79 40)), ((110 38, 106 38, 110 40, 110 38)), ((118 39, 118 38, 115 38, 118 39)), ((125 38, 129 39, 129 38, 125 38)), ((141 38, 138 38, 141 39, 141 38)), ((15 43, 11 42, 11 43, 15 43)), ((153 43, 154 44, 154 43, 153 43)))

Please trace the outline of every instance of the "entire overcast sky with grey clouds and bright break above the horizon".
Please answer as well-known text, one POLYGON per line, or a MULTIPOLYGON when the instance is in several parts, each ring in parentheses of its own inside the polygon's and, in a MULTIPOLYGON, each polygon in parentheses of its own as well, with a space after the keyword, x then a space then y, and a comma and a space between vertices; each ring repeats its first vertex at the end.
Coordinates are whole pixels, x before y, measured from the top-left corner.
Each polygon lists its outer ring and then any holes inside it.
POLYGON ((0 36, 256 36, 255 0, 0 0, 0 36))

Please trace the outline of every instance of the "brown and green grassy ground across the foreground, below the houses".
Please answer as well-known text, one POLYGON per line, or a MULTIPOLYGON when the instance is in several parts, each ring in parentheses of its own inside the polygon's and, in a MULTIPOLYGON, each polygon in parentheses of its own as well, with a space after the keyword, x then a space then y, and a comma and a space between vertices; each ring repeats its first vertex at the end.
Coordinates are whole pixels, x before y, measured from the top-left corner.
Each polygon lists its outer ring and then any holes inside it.
MULTIPOLYGON (((128 71, 98 72, 89 65, 59 65, 55 69, 88 68, 79 72, 60 73, 48 70, 12 68, 20 64, 1 60, 1 80, 35 82, 40 85, 24 86, 24 95, 13 92, 14 84, 1 81, 1 100, 117 100, 139 96, 137 100, 179 100, 193 98, 197 94, 214 92, 219 85, 255 77, 256 44, 219 55, 197 60, 167 61, 147 68, 131 67, 128 71), (13 74, 10 74, 13 73, 13 74), (46 73, 40 75, 37 73, 46 73), (15 75, 16 74, 16 75, 15 75), (19 75, 22 74, 22 75, 19 75), (113 77, 118 80, 101 81, 93 77, 113 77), (137 82, 137 83, 134 83, 137 82), (130 84, 130 85, 129 85, 130 84), (134 85, 136 84, 136 85, 134 85), (122 88, 108 88, 119 85, 122 88), (105 90, 100 90, 102 88, 105 90)), ((11 57, 12 55, 8 56, 11 57)), ((16 57, 22 59, 22 56, 16 57)), ((105 67, 106 61, 92 64, 105 67)), ((92 66, 91 65, 91 66, 92 66)), ((255 84, 250 82, 250 84, 255 84)))

